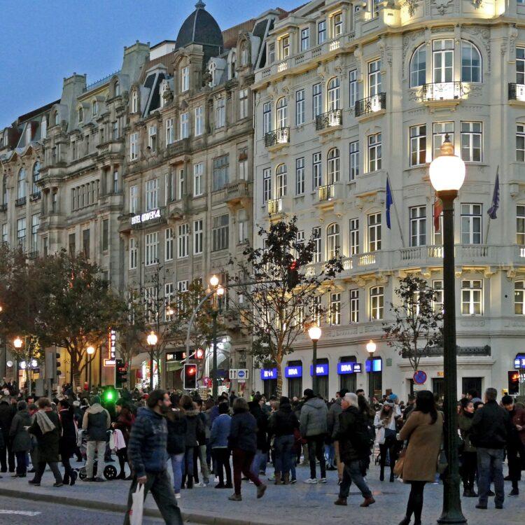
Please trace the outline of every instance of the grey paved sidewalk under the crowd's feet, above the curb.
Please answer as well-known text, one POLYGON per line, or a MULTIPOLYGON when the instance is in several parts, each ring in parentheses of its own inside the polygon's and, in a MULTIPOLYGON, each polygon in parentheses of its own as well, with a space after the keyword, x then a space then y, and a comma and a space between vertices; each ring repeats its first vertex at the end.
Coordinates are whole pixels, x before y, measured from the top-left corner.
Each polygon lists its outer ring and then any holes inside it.
MULTIPOLYGON (((271 472, 273 470, 268 468, 267 473, 271 472)), ((64 505, 115 512, 125 512, 131 483, 120 480, 85 483, 78 480, 74 486, 55 489, 52 486, 54 478, 49 470, 45 472, 39 487, 27 484, 30 477, 12 479, 9 476, 6 473, 0 479, 0 496, 45 501, 59 498, 64 505)), ((351 487, 347 507, 333 504, 338 493, 337 472, 328 472, 327 484, 304 484, 307 477, 309 469, 305 467, 297 468, 297 484, 293 485, 275 486, 273 482, 267 482, 266 477, 261 477, 269 486, 260 500, 255 498, 255 486, 243 482, 241 502, 229 501, 232 490, 214 489, 214 484, 184 490, 178 501, 185 520, 202 525, 280 525, 283 522, 294 525, 347 525, 349 522, 352 525, 397 525, 405 515, 409 486, 398 480, 393 483, 379 482, 379 470, 375 466, 370 469, 367 481, 377 503, 368 508, 359 507, 363 498, 355 486, 351 487)), ((505 493, 509 493, 510 489, 510 482, 505 482, 505 493)), ((505 498, 503 510, 493 508, 493 498, 489 498, 488 510, 475 509, 477 498, 462 498, 463 514, 470 525, 522 525, 525 522, 524 482, 520 483, 520 490, 519 497, 505 498)), ((435 524, 440 516, 442 491, 441 484, 426 486, 423 525, 435 524)), ((145 513, 160 516, 151 496, 146 499, 145 513)))

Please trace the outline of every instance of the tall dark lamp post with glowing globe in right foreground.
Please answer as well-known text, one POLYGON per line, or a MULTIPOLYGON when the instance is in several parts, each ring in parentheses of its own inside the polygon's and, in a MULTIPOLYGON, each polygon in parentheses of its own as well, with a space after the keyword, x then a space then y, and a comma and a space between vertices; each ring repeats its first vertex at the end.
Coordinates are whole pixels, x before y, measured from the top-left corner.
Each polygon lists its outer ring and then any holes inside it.
POLYGON ((459 493, 454 199, 465 181, 465 162, 454 155, 448 134, 441 145, 440 156, 430 162, 429 172, 430 182, 443 203, 444 449, 449 465, 443 480, 443 510, 437 523, 463 524, 467 520, 461 511, 459 493))

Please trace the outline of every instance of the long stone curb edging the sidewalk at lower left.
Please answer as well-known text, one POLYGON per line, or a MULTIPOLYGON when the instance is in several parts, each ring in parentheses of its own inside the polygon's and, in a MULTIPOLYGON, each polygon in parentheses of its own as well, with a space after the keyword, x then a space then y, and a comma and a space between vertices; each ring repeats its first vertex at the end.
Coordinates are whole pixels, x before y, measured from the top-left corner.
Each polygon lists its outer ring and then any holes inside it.
MULTIPOLYGON (((0 488, 0 496, 8 496, 9 498, 25 499, 30 497, 31 500, 45 501, 49 503, 50 494, 38 492, 22 492, 15 489, 0 488)), ((73 498, 71 496, 64 496, 60 494, 60 505, 69 505, 71 507, 87 507, 95 510, 109 510, 111 512, 120 512, 125 514, 127 505, 122 503, 111 503, 109 501, 90 501, 81 498, 73 498)), ((144 515, 153 518, 162 518, 158 509, 144 508, 144 515)), ((248 521, 246 519, 239 519, 228 516, 216 516, 211 512, 182 512, 183 521, 191 524, 199 525, 282 525, 281 521, 248 521)))

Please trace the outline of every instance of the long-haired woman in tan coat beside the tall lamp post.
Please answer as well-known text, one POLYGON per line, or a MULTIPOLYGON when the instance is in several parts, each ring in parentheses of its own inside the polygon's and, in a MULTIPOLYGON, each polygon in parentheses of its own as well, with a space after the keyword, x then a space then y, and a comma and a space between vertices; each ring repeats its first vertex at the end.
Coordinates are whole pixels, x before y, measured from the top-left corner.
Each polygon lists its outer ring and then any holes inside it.
POLYGON ((408 525, 412 514, 414 525, 421 525, 423 489, 427 482, 434 481, 442 435, 443 414, 437 412, 433 393, 428 390, 418 392, 416 407, 399 434, 400 440, 408 440, 402 478, 411 485, 407 513, 399 525, 408 525))

